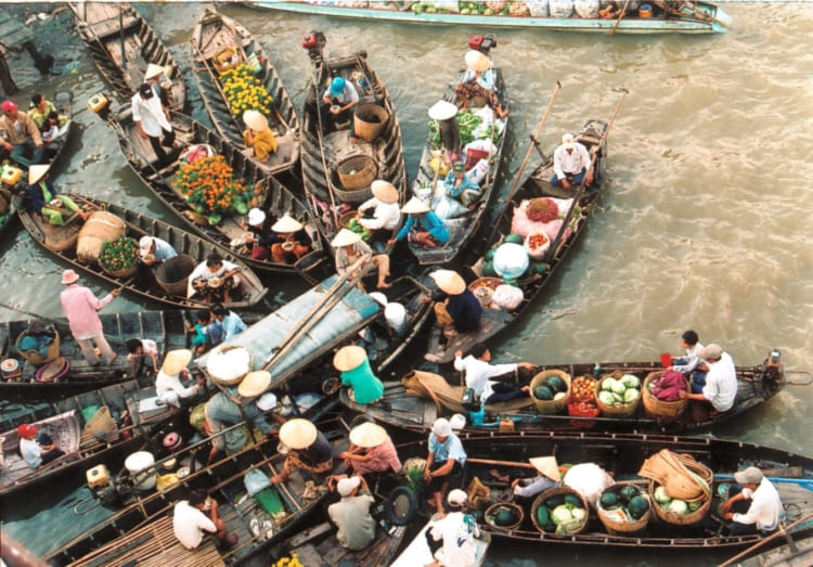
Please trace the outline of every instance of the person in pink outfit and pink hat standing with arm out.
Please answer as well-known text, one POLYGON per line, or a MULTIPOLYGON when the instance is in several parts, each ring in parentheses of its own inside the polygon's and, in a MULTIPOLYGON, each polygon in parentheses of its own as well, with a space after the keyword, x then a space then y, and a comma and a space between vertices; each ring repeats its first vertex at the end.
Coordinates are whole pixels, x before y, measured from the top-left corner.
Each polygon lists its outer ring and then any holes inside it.
POLYGON ((96 299, 93 292, 79 285, 78 281, 79 274, 74 270, 62 272, 62 283, 65 285, 65 289, 60 294, 60 301, 68 320, 70 334, 74 335, 76 344, 79 345, 85 360, 92 366, 101 362, 93 349, 93 343, 99 347, 105 362, 108 365, 113 364, 118 355, 113 351, 107 344, 107 339, 104 338, 102 320, 99 319, 96 311, 113 301, 114 297, 121 295, 121 289, 113 289, 104 298, 96 299))

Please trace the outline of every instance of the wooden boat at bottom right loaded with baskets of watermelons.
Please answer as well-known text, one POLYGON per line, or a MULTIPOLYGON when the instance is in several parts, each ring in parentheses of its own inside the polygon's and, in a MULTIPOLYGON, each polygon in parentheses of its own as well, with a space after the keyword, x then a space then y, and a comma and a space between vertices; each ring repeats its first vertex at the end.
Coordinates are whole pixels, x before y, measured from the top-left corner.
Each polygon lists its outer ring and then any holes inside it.
MULTIPOLYGON (((649 480, 642 478, 638 471, 644 461, 662 449, 688 455, 713 473, 712 499, 707 512, 715 511, 721 502, 721 493, 727 490, 732 475, 747 466, 758 466, 776 487, 785 507, 787 521, 793 521, 813 512, 813 459, 780 449, 746 443, 736 440, 708 437, 680 437, 673 435, 643 434, 590 434, 590 433, 518 433, 515 435, 463 434, 461 441, 468 455, 462 486, 469 487, 474 478, 490 489, 490 495, 481 498, 478 504, 488 506, 496 502, 496 494, 505 491, 507 485, 493 479, 490 471, 500 476, 534 477, 537 471, 528 462, 530 458, 556 458, 557 463, 567 466, 578 463, 595 463, 610 473, 617 482, 631 481, 640 487, 648 487, 649 480)), ((426 458, 427 439, 398 446, 399 456, 426 458)), ((646 491, 646 489, 644 489, 646 491)), ((547 543, 557 545, 595 545, 628 549, 669 550, 735 550, 747 547, 765 536, 730 536, 715 513, 708 512, 696 524, 678 525, 666 523, 651 513, 645 531, 636 536, 610 534, 604 528, 591 507, 586 525, 578 533, 554 534, 538 529, 532 523, 530 503, 519 504, 524 510, 524 520, 512 528, 499 528, 482 519, 480 530, 516 542, 547 543)), ((657 505, 653 502, 651 505, 657 505)), ((704 505, 705 506, 705 505, 704 505)), ((702 507, 701 507, 702 510, 702 507)), ((702 512, 698 516, 702 515, 702 512)))

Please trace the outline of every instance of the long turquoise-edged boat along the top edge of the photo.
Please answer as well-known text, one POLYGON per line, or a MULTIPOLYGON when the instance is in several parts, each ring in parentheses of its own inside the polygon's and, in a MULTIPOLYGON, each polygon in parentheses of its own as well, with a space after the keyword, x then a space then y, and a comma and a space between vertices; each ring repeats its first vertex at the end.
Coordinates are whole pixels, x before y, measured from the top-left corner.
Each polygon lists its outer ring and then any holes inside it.
MULTIPOLYGON (((503 9, 498 14, 486 14, 485 2, 453 2, 455 10, 446 12, 429 10, 436 2, 352 2, 348 5, 325 3, 319 0, 276 1, 254 0, 250 5, 268 10, 280 10, 299 14, 350 17, 357 20, 379 20, 384 22, 412 24, 459 24, 479 27, 531 27, 552 31, 586 31, 594 34, 721 34, 731 27, 731 17, 720 7, 710 2, 649 2, 656 8, 649 17, 636 13, 624 15, 621 20, 602 20, 599 17, 551 17, 545 11, 539 15, 514 16, 503 9), (463 4, 467 8, 463 9, 463 4), (657 8, 658 5, 663 8, 657 8), (674 4, 672 8, 670 4, 674 4), (472 7, 475 11, 470 11, 472 7), (460 10, 460 11, 459 11, 460 10), (469 13, 464 13, 469 10, 469 13)), ((449 5, 448 2, 443 2, 449 5)), ((524 4, 522 2, 503 2, 504 5, 524 4)), ((521 8, 520 8, 521 10, 521 8)), ((493 11, 492 11, 493 12, 493 11)), ((522 11, 521 13, 530 14, 522 11)))

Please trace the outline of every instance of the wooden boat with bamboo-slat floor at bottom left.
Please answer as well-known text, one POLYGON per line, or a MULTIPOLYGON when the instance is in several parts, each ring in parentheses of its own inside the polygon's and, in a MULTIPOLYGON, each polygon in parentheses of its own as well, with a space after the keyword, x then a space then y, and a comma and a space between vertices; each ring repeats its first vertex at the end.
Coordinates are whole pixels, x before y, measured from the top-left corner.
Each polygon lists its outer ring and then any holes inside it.
MULTIPOLYGON (((331 441, 334 454, 347 449, 347 430, 339 421, 332 420, 318 426, 331 441)), ((207 442, 194 443, 160 459, 153 468, 158 469, 170 459, 177 462, 195 460, 194 451, 207 442)), ((276 451, 276 444, 275 438, 263 437, 210 466, 190 467, 189 474, 163 490, 132 497, 131 503, 50 553, 46 559, 56 565, 76 566, 111 562, 124 565, 132 559, 139 565, 167 565, 170 562, 173 565, 192 565, 192 562, 196 565, 238 565, 295 533, 305 519, 321 508, 327 494, 321 478, 296 471, 286 481, 276 485, 275 492, 283 510, 275 517, 266 512, 256 498, 246 497, 243 477, 247 472, 259 469, 270 477, 282 469, 285 455, 276 451), (315 489, 306 485, 311 480, 315 489), (238 537, 236 545, 230 550, 216 549, 211 539, 206 539, 197 550, 188 551, 175 539, 168 513, 176 502, 185 500, 193 488, 206 490, 218 501, 220 518, 225 521, 230 533, 238 537), (257 519, 260 526, 256 533, 250 527, 253 519, 257 519)), ((334 459, 333 473, 341 472, 344 463, 334 459)))

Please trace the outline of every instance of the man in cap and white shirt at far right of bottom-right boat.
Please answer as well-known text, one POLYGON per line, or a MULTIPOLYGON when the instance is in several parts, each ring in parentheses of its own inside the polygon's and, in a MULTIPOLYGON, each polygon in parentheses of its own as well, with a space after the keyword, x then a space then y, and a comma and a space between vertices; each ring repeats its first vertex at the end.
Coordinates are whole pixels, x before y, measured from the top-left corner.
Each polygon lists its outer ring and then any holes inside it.
POLYGON ((731 486, 728 500, 723 504, 731 536, 775 531, 785 520, 776 487, 756 466, 735 473, 734 480, 737 484, 731 486))

